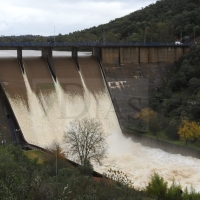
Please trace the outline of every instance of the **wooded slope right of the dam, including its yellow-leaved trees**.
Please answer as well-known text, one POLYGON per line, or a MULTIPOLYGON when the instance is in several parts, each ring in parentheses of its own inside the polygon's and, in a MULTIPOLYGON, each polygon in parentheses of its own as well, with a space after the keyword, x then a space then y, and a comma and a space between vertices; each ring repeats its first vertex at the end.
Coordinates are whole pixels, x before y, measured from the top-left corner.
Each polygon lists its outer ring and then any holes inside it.
MULTIPOLYGON (((192 46, 176 63, 165 88, 140 113, 140 124, 154 137, 190 147, 200 144, 200 46, 192 46)), ((133 127, 134 128, 134 127, 133 127)), ((135 127, 137 129, 137 127, 135 127)))

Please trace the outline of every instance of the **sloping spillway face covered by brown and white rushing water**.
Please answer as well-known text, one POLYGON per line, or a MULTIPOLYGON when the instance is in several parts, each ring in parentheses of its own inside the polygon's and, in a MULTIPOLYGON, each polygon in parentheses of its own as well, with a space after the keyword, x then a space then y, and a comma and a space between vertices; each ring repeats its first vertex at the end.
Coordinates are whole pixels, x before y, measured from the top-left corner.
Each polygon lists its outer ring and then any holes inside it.
POLYGON ((10 105, 13 125, 8 124, 7 111, 2 112, 1 122, 5 121, 10 141, 18 135, 17 143, 46 148, 54 140, 62 142, 70 121, 83 117, 99 119, 107 133, 113 127, 120 131, 96 58, 83 55, 77 62, 71 56, 48 59, 56 81, 46 56, 25 56, 21 63, 17 57, 0 59, 2 95, 10 105))

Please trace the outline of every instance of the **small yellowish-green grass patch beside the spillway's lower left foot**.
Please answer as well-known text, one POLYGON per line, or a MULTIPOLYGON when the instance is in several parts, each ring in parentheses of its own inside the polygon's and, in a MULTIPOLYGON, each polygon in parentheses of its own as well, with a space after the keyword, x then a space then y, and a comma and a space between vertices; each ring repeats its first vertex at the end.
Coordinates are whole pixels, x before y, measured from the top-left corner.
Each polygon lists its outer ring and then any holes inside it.
POLYGON ((37 159, 38 164, 42 164, 45 161, 45 153, 39 150, 24 151, 24 154, 32 161, 37 159))

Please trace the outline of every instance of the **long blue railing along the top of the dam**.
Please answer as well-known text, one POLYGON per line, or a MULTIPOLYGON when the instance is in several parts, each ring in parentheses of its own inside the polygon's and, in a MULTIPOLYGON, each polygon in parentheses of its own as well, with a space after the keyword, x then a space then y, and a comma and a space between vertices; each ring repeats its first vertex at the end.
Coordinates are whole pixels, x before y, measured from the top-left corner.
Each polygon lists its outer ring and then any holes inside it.
POLYGON ((144 43, 144 42, 0 42, 0 47, 123 47, 123 46, 146 46, 146 47, 174 47, 184 46, 188 47, 194 45, 194 43, 144 43))

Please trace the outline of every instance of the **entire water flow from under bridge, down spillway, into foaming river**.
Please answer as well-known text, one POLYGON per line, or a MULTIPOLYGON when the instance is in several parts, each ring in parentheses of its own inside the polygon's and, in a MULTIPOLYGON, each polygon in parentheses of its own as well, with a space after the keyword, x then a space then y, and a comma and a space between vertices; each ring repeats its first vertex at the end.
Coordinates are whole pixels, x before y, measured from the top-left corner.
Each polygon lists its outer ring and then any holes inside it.
POLYGON ((27 142, 43 148, 62 143, 69 123, 83 117, 96 118, 107 134, 108 154, 100 173, 117 168, 127 174, 135 188, 144 188, 157 172, 169 185, 173 179, 183 189, 191 185, 200 192, 200 160, 148 148, 123 136, 98 63, 91 53, 79 53, 80 72, 69 52, 53 52, 57 76, 54 82, 40 51, 23 51, 25 74, 16 51, 0 51, 0 82, 27 142))

